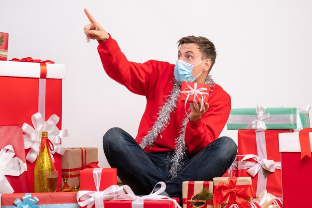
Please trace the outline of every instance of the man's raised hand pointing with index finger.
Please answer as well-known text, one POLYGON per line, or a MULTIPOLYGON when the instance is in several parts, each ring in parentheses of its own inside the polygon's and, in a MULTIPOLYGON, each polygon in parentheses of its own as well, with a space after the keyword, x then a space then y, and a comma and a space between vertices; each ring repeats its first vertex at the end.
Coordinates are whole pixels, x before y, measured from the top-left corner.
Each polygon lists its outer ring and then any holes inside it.
POLYGON ((90 41, 90 39, 96 39, 98 41, 105 41, 107 40, 110 35, 103 29, 103 27, 95 21, 93 16, 89 13, 89 11, 85 8, 83 9, 86 13, 88 19, 90 20, 91 24, 88 24, 83 27, 85 34, 87 36, 87 42, 90 41))

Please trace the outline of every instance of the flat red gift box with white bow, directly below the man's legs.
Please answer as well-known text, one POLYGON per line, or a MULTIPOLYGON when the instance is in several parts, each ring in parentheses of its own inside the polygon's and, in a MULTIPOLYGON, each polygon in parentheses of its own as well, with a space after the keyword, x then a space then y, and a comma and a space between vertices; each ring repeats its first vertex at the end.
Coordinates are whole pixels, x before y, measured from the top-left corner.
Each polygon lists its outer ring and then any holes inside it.
MULTIPOLYGON (((179 198, 171 198, 179 203, 179 198)), ((132 208, 132 200, 111 200, 104 201, 105 208, 132 208)), ((170 200, 151 201, 145 200, 143 204, 144 208, 175 208, 174 202, 170 200)))

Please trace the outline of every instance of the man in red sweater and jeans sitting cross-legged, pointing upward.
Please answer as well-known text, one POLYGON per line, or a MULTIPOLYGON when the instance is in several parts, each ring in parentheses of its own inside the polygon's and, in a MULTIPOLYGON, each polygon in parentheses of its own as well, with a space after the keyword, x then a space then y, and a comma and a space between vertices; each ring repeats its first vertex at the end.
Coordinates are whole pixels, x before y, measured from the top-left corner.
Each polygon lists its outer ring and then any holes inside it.
POLYGON ((208 75, 216 58, 213 43, 204 37, 181 38, 176 65, 155 60, 129 62, 87 9, 85 13, 91 22, 84 27, 87 41, 98 40, 108 76, 147 99, 136 139, 120 128, 109 129, 103 137, 106 158, 117 168, 121 181, 137 195, 150 194, 163 181, 166 193, 179 197, 181 203, 183 181, 222 176, 234 161, 237 146, 231 138, 218 138, 231 99, 208 75), (208 103, 191 103, 188 116, 178 99, 182 81, 210 87, 208 103))

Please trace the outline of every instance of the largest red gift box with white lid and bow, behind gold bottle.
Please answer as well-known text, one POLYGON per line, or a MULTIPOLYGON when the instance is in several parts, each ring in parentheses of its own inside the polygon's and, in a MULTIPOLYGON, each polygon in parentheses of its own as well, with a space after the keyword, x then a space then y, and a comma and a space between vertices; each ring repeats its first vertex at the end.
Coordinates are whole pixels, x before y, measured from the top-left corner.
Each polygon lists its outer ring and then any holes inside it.
POLYGON ((60 144, 60 138, 66 136, 66 132, 59 129, 61 129, 62 79, 65 78, 65 65, 31 63, 40 61, 31 58, 25 58, 23 61, 29 63, 0 61, 0 125, 23 125, 23 132, 26 133, 24 142, 29 191, 33 192, 33 171, 43 130, 48 130, 48 137, 55 148, 52 153, 59 174, 58 187, 61 185, 61 154, 65 148, 60 144), (49 121, 46 121, 48 119, 49 121), (40 125, 43 124, 44 127, 41 128, 40 125), (47 126, 51 128, 46 129, 47 126))

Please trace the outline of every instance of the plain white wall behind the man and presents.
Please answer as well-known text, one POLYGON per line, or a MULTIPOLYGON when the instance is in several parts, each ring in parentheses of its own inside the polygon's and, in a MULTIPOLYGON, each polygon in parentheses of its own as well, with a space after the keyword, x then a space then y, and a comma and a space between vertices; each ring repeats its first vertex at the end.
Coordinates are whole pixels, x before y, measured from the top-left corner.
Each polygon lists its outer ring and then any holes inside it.
MULTIPOLYGON (((8 58, 66 64, 63 144, 98 147, 102 167, 103 134, 118 126, 136 136, 146 101, 105 74, 97 42, 83 33, 85 7, 135 62, 175 63, 179 38, 210 38, 218 51, 212 74, 232 107, 312 104, 311 0, 1 0, 8 58)), ((235 130, 221 135, 237 140, 235 130)))

